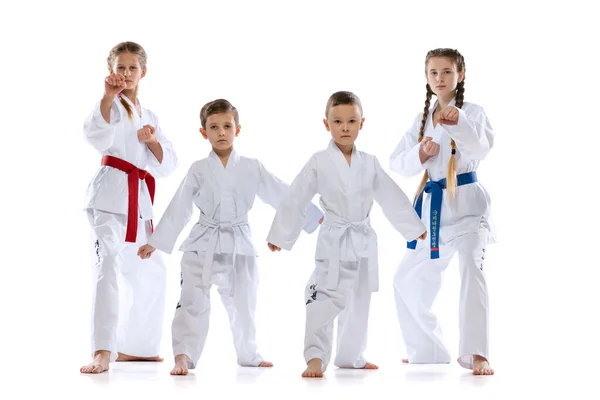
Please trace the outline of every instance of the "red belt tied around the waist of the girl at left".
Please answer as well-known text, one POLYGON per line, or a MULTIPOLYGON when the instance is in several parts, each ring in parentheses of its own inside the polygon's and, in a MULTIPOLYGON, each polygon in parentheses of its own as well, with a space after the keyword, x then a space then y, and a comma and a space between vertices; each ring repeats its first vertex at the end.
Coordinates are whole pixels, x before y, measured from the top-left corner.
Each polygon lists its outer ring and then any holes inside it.
MULTIPOLYGON (((135 243, 139 216, 138 193, 140 179, 146 181, 148 191, 150 192, 150 200, 152 201, 152 204, 154 204, 154 189, 156 187, 154 177, 150 175, 148 171, 139 169, 135 165, 113 156, 102 157, 102 165, 116 168, 127 174, 129 206, 127 208, 127 233, 125 234, 125 241, 135 243)), ((152 226, 152 220, 150 221, 150 225, 152 226)), ((152 231, 154 231, 154 227, 152 227, 152 231)))

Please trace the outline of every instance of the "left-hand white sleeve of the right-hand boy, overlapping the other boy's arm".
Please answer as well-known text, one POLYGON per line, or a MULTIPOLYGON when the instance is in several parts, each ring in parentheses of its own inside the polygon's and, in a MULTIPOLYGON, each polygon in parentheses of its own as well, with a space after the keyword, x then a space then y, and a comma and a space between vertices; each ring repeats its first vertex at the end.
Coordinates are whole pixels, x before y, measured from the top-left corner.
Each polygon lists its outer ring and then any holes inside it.
POLYGON ((306 206, 316 193, 317 164, 312 157, 296 176, 277 207, 267 242, 291 250, 310 216, 306 212, 306 206))

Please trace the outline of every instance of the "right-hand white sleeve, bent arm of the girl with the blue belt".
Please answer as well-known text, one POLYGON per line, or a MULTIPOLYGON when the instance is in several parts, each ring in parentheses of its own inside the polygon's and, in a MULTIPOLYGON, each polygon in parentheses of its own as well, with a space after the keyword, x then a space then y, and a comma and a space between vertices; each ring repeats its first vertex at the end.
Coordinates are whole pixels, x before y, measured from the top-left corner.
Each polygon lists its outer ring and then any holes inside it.
POLYGON ((441 126, 454 139, 461 156, 470 160, 483 160, 494 145, 494 132, 481 107, 468 110, 458 108, 458 123, 441 126))

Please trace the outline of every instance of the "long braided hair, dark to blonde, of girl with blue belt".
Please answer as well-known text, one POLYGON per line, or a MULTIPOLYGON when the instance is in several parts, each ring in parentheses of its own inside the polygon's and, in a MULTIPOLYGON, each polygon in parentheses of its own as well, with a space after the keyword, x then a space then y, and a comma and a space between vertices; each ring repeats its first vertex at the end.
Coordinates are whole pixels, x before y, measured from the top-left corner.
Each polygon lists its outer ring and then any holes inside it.
MULTIPOLYGON (((429 60, 433 57, 447 57, 449 58, 455 65, 457 72, 465 72, 465 59, 458 52, 458 50, 453 49, 435 49, 431 50, 427 53, 425 57, 425 72, 427 73, 427 64, 429 60)), ((427 96, 425 97, 425 108, 423 109, 423 118, 421 119, 421 128, 419 129, 418 142, 423 140, 423 134, 425 133, 425 123, 427 122, 427 115, 429 114, 429 105, 431 103, 431 96, 435 93, 431 90, 429 84, 425 85, 425 89, 427 90, 427 96)), ((464 102, 464 94, 465 94, 465 79, 463 77, 462 81, 456 85, 456 103, 455 106, 457 108, 462 108, 464 102)), ((450 140, 450 146, 452 147, 452 154, 450 155, 450 161, 448 162, 448 170, 446 172, 446 191, 451 199, 454 198, 456 193, 456 159, 454 153, 456 152, 456 143, 454 140, 450 140)), ((419 184, 419 188, 417 189, 417 194, 415 195, 415 200, 419 197, 419 194, 425 188, 425 184, 429 180, 429 173, 425 170, 423 174, 423 178, 421 179, 421 183, 419 184)))

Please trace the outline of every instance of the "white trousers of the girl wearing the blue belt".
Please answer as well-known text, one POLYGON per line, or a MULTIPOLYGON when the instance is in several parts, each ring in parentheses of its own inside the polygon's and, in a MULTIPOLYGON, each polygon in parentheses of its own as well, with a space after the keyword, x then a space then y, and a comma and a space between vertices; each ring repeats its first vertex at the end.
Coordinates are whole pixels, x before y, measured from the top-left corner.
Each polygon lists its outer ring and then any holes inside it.
POLYGON ((431 259, 427 242, 417 242, 406 251, 394 277, 398 319, 409 363, 449 363, 437 317, 431 312, 448 263, 458 253, 461 276, 458 362, 473 368, 473 355, 489 359, 489 305, 483 272, 488 232, 470 233, 457 239, 453 247, 442 245, 438 259, 431 259))

